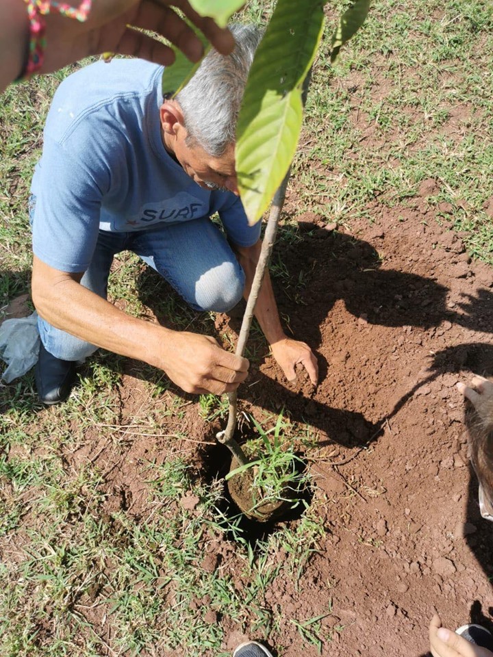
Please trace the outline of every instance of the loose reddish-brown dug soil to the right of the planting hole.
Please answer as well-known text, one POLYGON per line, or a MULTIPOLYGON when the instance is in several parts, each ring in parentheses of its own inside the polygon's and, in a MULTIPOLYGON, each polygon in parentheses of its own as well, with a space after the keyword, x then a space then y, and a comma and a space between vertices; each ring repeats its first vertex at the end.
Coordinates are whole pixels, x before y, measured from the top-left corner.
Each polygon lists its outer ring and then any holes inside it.
MULTIPOLYGON (((311 273, 297 296, 277 285, 279 309, 316 350, 320 385, 314 390, 303 372, 296 385, 286 383, 266 357, 251 368, 251 385, 240 388, 242 409, 262 418, 285 407, 294 422, 312 426, 318 444, 305 456, 326 535, 301 580, 279 576, 266 591, 266 608, 281 612, 269 641, 283 657, 318 654, 290 619, 329 608, 322 630, 333 628, 333 636, 323 654, 338 657, 424 655, 435 610, 448 627, 490 624, 491 526, 479 514, 455 383, 493 373, 493 272, 471 262, 460 235, 435 220, 427 205, 435 189, 425 181, 411 209, 375 205, 372 222, 354 222, 351 233, 301 216, 303 241, 283 243, 294 279, 299 270, 311 273)), ((241 312, 231 320, 220 315, 216 328, 238 329, 241 312)), ((140 384, 125 376, 129 416, 145 403, 140 384)), ((199 443, 217 428, 189 404, 182 424, 188 439, 173 451, 187 451, 205 475, 207 450, 199 443)), ((142 450, 163 458, 163 447, 139 441, 125 463, 142 450)), ((138 513, 143 486, 125 467, 113 472, 114 500, 121 506, 127 491, 125 508, 138 513)), ((216 543, 213 568, 218 560, 225 574, 241 571, 236 545, 226 539, 216 543)), ((227 617, 220 622, 231 649, 242 635, 227 617)))

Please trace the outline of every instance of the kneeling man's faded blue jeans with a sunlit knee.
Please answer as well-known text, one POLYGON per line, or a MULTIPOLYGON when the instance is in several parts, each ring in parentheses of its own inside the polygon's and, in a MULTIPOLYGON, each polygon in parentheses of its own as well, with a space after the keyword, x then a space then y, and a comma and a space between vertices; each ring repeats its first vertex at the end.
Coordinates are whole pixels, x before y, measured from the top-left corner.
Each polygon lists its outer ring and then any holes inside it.
MULTIPOLYGON (((225 312, 242 298, 244 272, 225 235, 209 218, 164 226, 152 231, 99 231, 96 249, 81 285, 106 298, 114 255, 136 253, 198 311, 225 312)), ((38 319, 46 350, 65 361, 90 356, 97 347, 38 319)))

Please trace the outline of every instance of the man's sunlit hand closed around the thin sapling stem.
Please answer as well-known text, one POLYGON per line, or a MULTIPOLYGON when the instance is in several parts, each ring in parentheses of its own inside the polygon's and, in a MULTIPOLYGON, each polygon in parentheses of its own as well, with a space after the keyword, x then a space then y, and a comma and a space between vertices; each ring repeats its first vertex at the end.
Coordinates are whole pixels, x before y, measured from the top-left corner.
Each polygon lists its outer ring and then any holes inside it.
POLYGON ((172 339, 172 358, 162 369, 185 392, 221 395, 247 378, 249 361, 220 348, 213 337, 182 331, 172 339))

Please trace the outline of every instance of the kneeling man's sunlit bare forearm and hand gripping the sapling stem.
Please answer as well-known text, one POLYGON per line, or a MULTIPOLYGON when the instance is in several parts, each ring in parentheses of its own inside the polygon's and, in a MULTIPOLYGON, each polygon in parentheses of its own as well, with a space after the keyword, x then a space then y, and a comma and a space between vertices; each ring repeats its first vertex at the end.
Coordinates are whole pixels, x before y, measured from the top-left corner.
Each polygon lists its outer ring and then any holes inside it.
POLYGON ((80 279, 35 256, 32 294, 41 317, 86 342, 164 370, 186 392, 219 395, 247 378, 249 361, 220 348, 213 337, 133 318, 79 285, 80 279))

